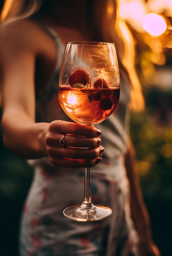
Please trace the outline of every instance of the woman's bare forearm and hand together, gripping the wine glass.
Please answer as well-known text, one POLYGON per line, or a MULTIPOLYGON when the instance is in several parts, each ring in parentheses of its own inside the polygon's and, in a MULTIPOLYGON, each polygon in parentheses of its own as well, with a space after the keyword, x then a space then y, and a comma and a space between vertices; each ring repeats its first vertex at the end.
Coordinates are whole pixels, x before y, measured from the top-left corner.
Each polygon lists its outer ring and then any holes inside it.
POLYGON ((2 129, 5 146, 27 159, 48 156, 52 164, 65 168, 92 167, 102 160, 101 131, 92 126, 63 120, 36 124, 33 115, 16 107, 4 110, 2 129))

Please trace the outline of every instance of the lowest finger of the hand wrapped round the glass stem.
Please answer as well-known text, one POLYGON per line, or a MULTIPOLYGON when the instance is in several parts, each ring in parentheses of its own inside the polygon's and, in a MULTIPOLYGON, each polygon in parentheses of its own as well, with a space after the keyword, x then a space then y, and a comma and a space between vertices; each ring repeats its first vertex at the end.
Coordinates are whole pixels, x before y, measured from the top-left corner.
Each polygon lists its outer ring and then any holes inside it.
POLYGON ((87 168, 93 167, 99 164, 102 161, 101 157, 97 157, 96 159, 69 159, 69 158, 54 158, 50 159, 51 163, 56 167, 63 168, 87 168))

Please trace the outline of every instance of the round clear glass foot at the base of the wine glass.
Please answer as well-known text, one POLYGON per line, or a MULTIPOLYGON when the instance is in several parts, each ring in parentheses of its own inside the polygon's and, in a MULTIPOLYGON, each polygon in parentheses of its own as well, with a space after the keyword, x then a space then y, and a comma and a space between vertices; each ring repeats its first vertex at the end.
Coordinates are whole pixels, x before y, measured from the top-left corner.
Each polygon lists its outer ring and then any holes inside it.
POLYGON ((67 207, 63 214, 65 217, 76 220, 76 221, 95 221, 102 220, 111 215, 112 210, 109 207, 105 207, 102 205, 86 205, 86 204, 78 204, 67 207))

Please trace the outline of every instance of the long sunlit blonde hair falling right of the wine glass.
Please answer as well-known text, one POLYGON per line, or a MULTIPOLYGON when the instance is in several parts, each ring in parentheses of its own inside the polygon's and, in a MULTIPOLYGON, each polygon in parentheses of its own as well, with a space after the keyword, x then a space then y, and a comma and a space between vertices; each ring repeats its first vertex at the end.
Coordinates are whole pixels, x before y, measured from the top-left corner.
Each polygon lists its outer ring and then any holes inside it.
POLYGON ((120 73, 127 76, 130 82, 130 108, 138 112, 145 108, 145 101, 136 74, 134 39, 125 21, 119 16, 118 2, 96 0, 95 10, 99 9, 99 12, 94 13, 94 23, 103 40, 115 43, 120 73))

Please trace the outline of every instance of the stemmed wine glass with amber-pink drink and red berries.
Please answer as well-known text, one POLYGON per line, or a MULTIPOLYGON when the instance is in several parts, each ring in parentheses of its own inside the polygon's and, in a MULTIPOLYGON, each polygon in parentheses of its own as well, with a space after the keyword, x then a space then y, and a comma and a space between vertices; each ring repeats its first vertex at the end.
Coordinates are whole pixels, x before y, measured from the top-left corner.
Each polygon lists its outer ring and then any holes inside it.
MULTIPOLYGON (((59 101, 68 117, 94 126, 112 114, 119 94, 120 75, 113 43, 67 43, 60 70, 59 101)), ((67 207, 63 214, 72 220, 93 221, 111 213, 109 207, 92 204, 89 168, 85 168, 83 203, 67 207)))

